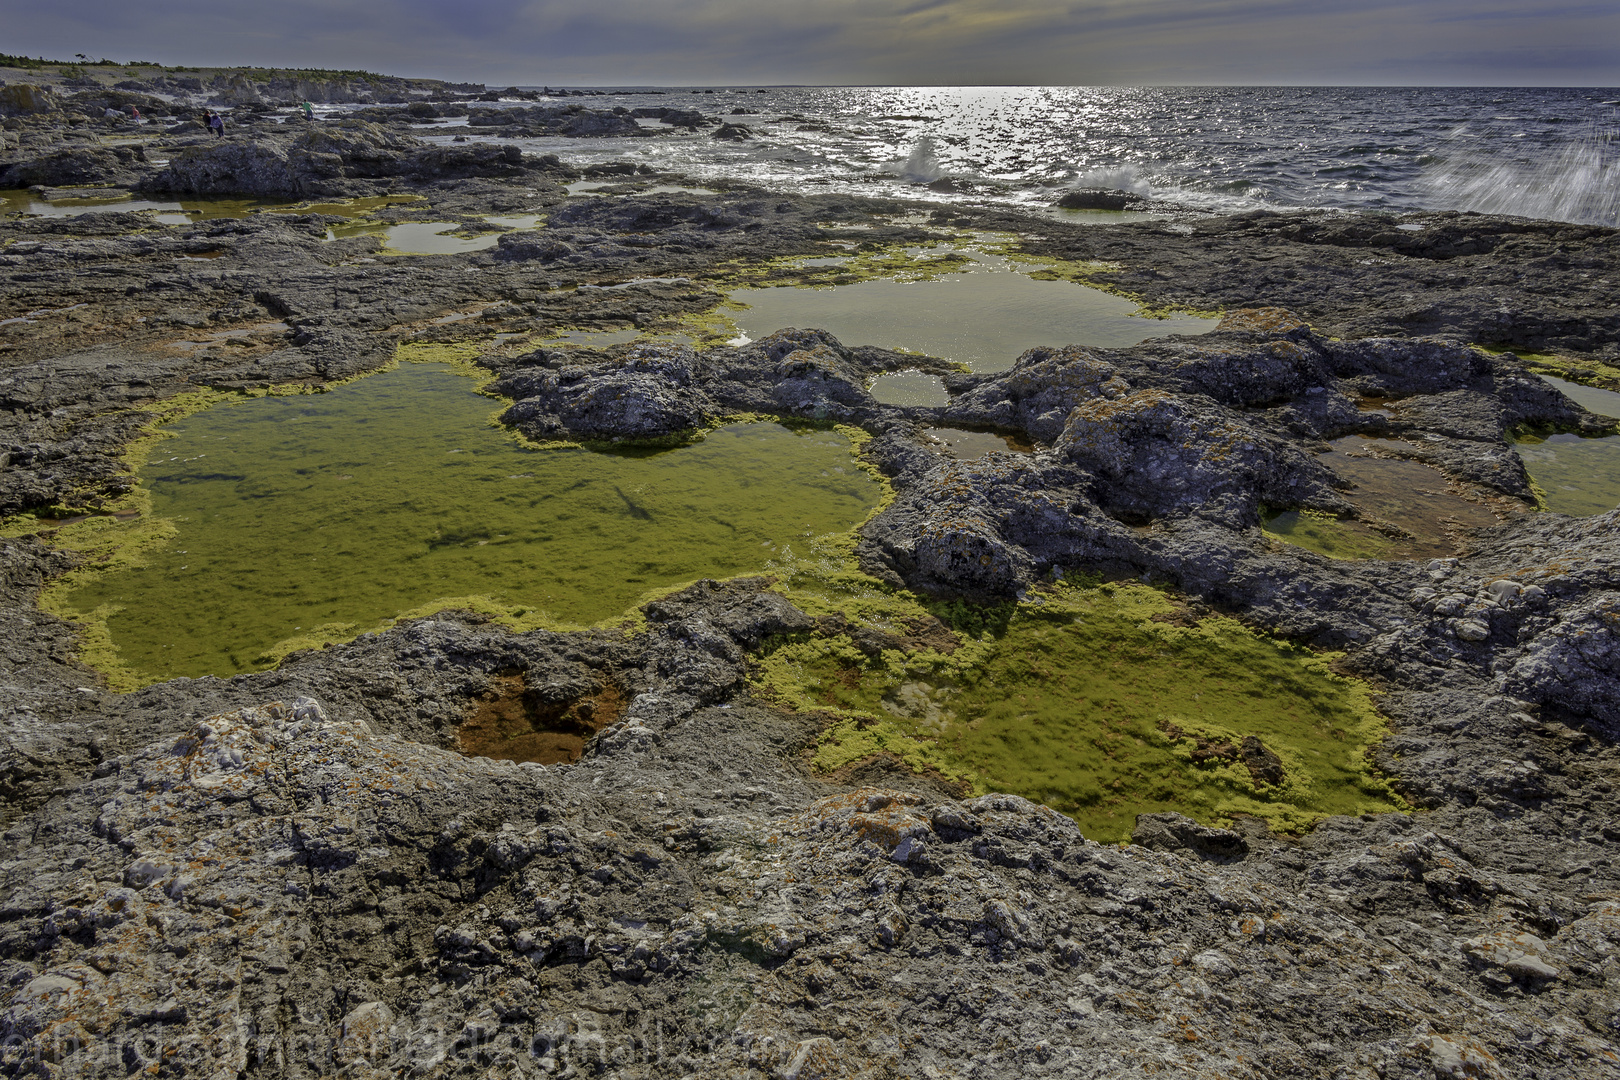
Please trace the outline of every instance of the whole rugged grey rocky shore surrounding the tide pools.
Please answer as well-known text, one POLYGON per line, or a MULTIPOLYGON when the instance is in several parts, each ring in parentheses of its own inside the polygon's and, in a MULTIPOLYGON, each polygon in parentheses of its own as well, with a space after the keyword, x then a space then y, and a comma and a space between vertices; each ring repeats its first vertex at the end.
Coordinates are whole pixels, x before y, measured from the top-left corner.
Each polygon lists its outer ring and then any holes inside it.
MULTIPOLYGON (((1536 512, 1511 444, 1614 429, 1534 372, 1620 389, 1620 232, 1173 207, 1100 227, 653 193, 680 178, 429 146, 394 117, 465 115, 481 138, 737 133, 656 107, 497 117, 483 87, 410 84, 368 91, 400 97, 392 113, 305 126, 293 99, 360 91, 237 78, 207 91, 237 107, 222 139, 178 110, 125 141, 104 115, 122 105, 102 105, 117 87, 0 87, 0 188, 303 204, 0 220, 0 1074, 1620 1069, 1620 510, 1536 512), (572 194, 583 180, 616 194, 572 194), (389 220, 499 235, 428 256, 329 238, 334 202, 382 196, 399 198, 389 220), (544 227, 488 220, 518 212, 544 227), (961 230, 1223 321, 1118 350, 1051 342, 993 374, 807 327, 703 348, 525 343, 688 330, 739 264, 961 230), (131 693, 40 610, 76 563, 53 525, 126 505, 126 453, 165 403, 492 340, 517 343, 476 363, 533 439, 679 439, 737 415, 859 427, 894 497, 855 557, 891 586, 995 604, 1069 573, 1139 580, 1189 619, 1341 649, 1390 717, 1374 758, 1409 813, 1302 836, 1152 814, 1134 844, 1103 845, 897 761, 820 774, 805 750, 825 717, 761 699, 750 665, 784 636, 873 631, 828 630, 768 578, 693 585, 629 633, 442 612, 131 693), (949 403, 875 400, 870 379, 901 369, 940 376, 949 403), (930 424, 1034 452, 941 457, 930 424), (1359 434, 1498 523, 1443 559, 1335 560, 1267 536, 1265 512, 1358 512, 1322 453, 1359 434), (583 756, 462 753, 460 729, 496 706, 570 717, 583 756)), ((149 94, 157 118, 175 89, 117 92, 149 94)))

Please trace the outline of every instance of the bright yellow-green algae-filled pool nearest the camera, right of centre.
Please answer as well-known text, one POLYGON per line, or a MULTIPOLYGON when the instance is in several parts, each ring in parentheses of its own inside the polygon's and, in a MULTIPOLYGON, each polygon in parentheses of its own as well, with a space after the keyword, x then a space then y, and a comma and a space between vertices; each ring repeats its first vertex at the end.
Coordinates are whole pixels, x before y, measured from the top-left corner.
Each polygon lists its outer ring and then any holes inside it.
MULTIPOLYGON (((782 563, 787 594, 893 635, 925 614, 915 597, 838 563, 836 551, 782 563)), ((868 657, 839 635, 779 641, 760 659, 763 696, 828 716, 812 755, 818 771, 889 755, 974 793, 1043 801, 1097 840, 1129 839, 1139 813, 1212 824, 1252 814, 1302 831, 1328 814, 1403 805, 1366 758, 1385 721, 1364 683, 1332 670, 1333 654, 1225 617, 1178 625, 1170 597, 1134 583, 933 612, 974 631, 959 633, 949 656, 868 657), (1281 759, 1280 784, 1254 779, 1236 753, 1246 735, 1281 759)))

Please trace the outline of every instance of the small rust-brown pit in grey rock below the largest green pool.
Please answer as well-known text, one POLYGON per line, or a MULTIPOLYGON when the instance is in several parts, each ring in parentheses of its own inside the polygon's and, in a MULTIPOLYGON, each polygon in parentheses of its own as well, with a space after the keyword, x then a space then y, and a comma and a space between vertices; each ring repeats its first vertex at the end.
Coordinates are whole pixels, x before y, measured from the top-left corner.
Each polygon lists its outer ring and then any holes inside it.
POLYGON ((465 755, 496 761, 567 764, 585 755, 585 743, 624 714, 617 687, 549 703, 528 688, 520 672, 491 678, 489 690, 473 699, 471 712, 457 730, 465 755))

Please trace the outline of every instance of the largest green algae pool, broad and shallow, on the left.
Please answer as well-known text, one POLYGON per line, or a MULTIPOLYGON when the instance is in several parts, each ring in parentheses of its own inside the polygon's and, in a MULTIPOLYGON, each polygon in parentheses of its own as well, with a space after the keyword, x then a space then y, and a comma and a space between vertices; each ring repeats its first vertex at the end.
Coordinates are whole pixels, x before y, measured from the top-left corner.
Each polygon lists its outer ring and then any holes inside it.
POLYGON ((170 424, 139 479, 172 538, 144 565, 71 576, 55 607, 104 622, 113 651, 96 659, 123 685, 230 675, 447 606, 595 623, 659 588, 758 570, 881 497, 836 431, 530 449, 475 385, 405 363, 170 424))

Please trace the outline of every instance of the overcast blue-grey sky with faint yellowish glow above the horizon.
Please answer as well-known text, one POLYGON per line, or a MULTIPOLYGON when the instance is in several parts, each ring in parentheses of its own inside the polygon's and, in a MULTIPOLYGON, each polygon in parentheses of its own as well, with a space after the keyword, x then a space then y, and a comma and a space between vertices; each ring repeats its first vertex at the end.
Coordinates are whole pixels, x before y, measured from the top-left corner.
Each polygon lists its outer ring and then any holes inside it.
POLYGON ((1620 86, 1620 0, 16 0, 0 52, 494 86, 1620 86))

